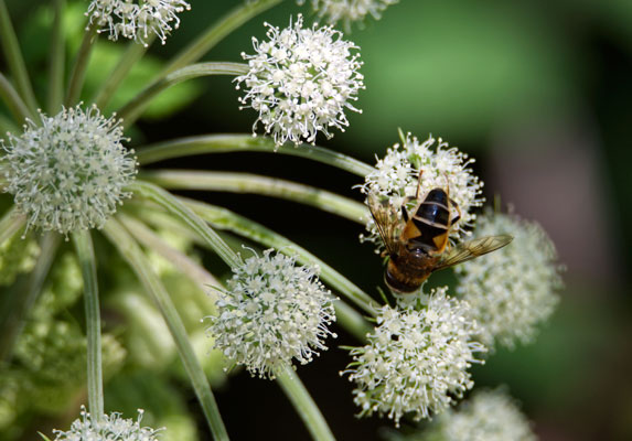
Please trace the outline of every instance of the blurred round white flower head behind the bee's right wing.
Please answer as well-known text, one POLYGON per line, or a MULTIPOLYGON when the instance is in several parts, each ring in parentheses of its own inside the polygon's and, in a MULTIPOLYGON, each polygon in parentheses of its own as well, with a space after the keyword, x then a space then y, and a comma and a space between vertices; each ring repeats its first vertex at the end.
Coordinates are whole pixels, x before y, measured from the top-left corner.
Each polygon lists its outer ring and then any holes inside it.
POLYGON ((457 292, 472 306, 481 341, 514 347, 533 340, 535 326, 553 313, 561 288, 555 246, 536 223, 486 212, 475 236, 510 234, 514 240, 490 255, 456 267, 457 292))

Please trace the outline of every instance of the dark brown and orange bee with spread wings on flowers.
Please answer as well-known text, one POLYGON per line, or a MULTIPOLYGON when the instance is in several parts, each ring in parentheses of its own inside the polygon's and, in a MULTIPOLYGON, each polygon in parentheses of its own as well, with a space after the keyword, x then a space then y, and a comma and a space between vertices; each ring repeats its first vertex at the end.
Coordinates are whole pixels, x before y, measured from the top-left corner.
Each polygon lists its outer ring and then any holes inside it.
POLYGON ((399 218, 387 201, 368 195, 367 205, 386 248, 383 256, 389 257, 384 281, 397 293, 414 292, 432 272, 494 251, 513 240, 510 235, 485 236, 450 246, 448 238, 461 218, 461 211, 450 198, 449 182, 446 190, 432 189, 420 200, 421 173, 415 196, 418 203, 411 216, 406 203, 413 197, 405 200, 399 218))

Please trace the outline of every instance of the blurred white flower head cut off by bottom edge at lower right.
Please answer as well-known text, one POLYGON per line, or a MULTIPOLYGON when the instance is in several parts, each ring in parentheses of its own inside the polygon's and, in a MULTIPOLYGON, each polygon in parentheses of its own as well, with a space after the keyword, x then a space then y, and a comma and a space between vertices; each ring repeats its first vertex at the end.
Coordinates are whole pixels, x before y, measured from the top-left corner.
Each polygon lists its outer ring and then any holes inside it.
POLYGON ((450 441, 536 441, 518 406, 501 390, 483 390, 441 415, 430 431, 450 441))

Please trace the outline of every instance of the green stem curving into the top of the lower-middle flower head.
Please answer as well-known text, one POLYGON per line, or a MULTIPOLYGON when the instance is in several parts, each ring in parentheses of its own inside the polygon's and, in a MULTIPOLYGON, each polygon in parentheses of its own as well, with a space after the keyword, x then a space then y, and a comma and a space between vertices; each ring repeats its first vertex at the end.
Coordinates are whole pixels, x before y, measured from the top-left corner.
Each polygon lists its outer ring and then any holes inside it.
POLYGON ((142 181, 137 181, 129 185, 129 190, 139 196, 156 202, 169 213, 182 219, 190 228, 199 234, 231 268, 237 268, 242 265, 239 256, 222 240, 217 233, 172 194, 157 185, 142 181))

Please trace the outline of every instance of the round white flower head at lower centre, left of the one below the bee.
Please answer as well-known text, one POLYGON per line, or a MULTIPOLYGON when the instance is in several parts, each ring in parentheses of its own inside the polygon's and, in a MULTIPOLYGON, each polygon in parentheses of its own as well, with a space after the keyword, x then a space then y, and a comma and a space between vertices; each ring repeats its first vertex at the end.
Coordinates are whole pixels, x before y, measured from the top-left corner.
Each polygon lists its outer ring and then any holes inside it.
POLYGON ((328 325, 335 320, 331 292, 317 268, 297 267, 294 258, 272 249, 234 270, 219 291, 218 315, 208 318, 215 347, 254 376, 274 378, 277 366, 312 361, 325 351, 328 325))

